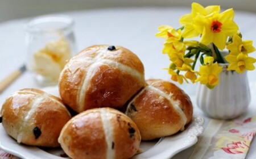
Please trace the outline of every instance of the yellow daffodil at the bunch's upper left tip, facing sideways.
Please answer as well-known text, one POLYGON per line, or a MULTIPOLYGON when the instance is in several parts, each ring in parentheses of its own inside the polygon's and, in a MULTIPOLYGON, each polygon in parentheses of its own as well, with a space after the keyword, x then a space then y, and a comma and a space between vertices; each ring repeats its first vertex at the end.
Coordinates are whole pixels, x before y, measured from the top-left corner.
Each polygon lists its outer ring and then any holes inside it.
POLYGON ((175 30, 170 26, 160 26, 158 28, 160 32, 156 33, 155 36, 166 38, 166 43, 171 43, 173 41, 179 41, 181 39, 181 30, 175 30))

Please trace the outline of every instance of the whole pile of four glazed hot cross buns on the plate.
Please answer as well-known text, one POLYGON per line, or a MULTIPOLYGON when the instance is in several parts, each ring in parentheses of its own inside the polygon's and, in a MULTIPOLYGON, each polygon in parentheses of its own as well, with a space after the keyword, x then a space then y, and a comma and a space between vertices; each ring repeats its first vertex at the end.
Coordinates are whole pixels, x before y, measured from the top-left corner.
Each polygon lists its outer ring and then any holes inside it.
POLYGON ((71 58, 59 93, 61 99, 36 89, 11 95, 1 110, 6 132, 18 143, 60 145, 71 158, 131 158, 141 139, 183 131, 193 114, 183 90, 145 81, 141 60, 119 46, 94 45, 71 58))

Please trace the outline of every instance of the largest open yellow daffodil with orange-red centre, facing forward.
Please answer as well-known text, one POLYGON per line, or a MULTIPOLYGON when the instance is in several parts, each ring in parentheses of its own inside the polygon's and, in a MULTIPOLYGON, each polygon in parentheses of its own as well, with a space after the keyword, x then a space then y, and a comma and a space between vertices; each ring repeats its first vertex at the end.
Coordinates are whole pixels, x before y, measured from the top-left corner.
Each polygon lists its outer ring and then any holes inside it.
POLYGON ((193 27, 202 34, 201 43, 204 45, 214 43, 217 48, 224 49, 227 37, 236 34, 238 30, 233 18, 233 9, 228 9, 221 14, 197 15, 193 20, 193 27))

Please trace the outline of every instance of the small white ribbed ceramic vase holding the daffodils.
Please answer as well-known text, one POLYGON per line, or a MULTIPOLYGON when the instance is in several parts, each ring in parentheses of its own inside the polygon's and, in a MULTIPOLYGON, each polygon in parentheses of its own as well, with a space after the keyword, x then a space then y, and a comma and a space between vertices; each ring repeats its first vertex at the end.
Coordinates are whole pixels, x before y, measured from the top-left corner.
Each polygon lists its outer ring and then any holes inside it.
POLYGON ((211 118, 233 119, 246 112, 250 103, 247 72, 239 74, 226 70, 228 64, 219 65, 223 68, 214 89, 201 84, 197 86, 197 106, 211 118))

